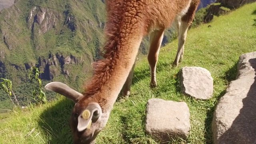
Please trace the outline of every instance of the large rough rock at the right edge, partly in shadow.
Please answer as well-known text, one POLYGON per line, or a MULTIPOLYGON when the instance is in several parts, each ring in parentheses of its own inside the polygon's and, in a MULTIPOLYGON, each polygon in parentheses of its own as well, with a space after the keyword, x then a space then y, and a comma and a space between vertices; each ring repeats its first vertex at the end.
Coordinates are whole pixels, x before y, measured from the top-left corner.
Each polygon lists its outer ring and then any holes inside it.
POLYGON ((240 56, 237 79, 216 105, 212 137, 214 144, 256 144, 256 52, 240 56))

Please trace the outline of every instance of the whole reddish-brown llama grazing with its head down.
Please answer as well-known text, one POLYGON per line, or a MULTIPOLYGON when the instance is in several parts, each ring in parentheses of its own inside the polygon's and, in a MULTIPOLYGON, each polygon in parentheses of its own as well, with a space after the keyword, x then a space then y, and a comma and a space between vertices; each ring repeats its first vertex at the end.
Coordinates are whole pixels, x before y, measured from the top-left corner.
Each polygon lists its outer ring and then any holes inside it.
POLYGON ((108 22, 103 48, 104 59, 95 63, 94 74, 81 94, 61 82, 51 82, 47 90, 75 102, 70 116, 74 144, 94 144, 106 126, 122 86, 130 84, 142 38, 150 34, 148 62, 152 87, 156 86, 156 63, 164 30, 174 24, 179 42, 174 65, 184 54, 188 26, 200 0, 106 0, 108 22), (128 79, 128 80, 127 80, 128 79))

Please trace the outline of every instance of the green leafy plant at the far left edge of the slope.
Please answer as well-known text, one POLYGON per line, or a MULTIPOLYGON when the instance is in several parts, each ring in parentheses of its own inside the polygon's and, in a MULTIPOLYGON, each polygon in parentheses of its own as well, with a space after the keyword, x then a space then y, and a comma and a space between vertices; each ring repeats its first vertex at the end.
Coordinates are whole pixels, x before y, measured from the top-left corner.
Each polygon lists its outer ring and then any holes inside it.
POLYGON ((0 89, 4 90, 4 92, 6 92, 6 94, 9 96, 10 100, 12 101, 12 104, 15 106, 15 104, 12 100, 12 95, 13 95, 16 103, 20 107, 20 104, 19 104, 14 92, 12 91, 12 81, 5 79, 5 78, 0 78, 0 79, 3 80, 2 82, 0 82, 0 89))

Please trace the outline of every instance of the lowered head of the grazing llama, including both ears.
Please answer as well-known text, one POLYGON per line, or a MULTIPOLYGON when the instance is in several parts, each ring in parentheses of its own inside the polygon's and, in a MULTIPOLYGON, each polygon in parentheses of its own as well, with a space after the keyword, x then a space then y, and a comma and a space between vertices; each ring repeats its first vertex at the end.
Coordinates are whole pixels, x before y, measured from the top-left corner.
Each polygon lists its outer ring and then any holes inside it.
POLYGON ((96 136, 108 121, 109 112, 102 112, 96 100, 84 97, 83 94, 61 82, 50 82, 45 88, 66 96, 76 103, 69 121, 74 144, 94 144, 96 136))

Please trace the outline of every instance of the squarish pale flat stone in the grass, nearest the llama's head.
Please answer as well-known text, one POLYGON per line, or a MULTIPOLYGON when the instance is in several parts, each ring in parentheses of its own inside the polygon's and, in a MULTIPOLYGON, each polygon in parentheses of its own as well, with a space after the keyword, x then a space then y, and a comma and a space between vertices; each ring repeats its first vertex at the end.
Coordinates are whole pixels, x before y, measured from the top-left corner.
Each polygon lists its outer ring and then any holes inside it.
POLYGON ((185 102, 152 98, 146 108, 146 133, 156 141, 186 139, 190 131, 190 112, 185 102))

